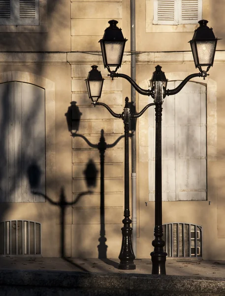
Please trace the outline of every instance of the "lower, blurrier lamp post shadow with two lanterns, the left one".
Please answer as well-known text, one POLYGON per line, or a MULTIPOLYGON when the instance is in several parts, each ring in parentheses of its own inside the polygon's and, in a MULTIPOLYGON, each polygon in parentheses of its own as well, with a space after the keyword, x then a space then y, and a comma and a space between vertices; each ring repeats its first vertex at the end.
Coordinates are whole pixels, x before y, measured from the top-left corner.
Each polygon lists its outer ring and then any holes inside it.
MULTIPOLYGON (((39 185, 39 181, 41 179, 41 171, 39 166, 34 162, 32 163, 28 170, 27 170, 27 174, 28 174, 28 180, 30 183, 30 187, 32 190, 32 193, 35 195, 39 195, 42 196, 43 198, 45 198, 50 204, 52 204, 53 206, 57 206, 60 209, 60 225, 61 225, 61 241, 60 241, 60 254, 61 257, 70 262, 72 265, 74 265, 75 267, 81 269, 82 271, 87 271, 85 268, 79 266, 78 264, 71 262, 70 260, 68 260, 65 257, 65 231, 64 231, 64 225, 65 225, 65 211, 66 211, 66 207, 72 206, 76 203, 78 203, 78 201, 84 197, 87 194, 91 194, 93 193, 93 191, 88 190, 88 191, 84 191, 84 192, 80 192, 77 194, 76 198, 72 200, 72 202, 68 202, 66 200, 65 197, 65 193, 64 193, 64 186, 61 187, 61 192, 60 192, 60 196, 59 196, 59 201, 55 202, 53 199, 51 199, 49 196, 47 196, 46 194, 42 193, 42 192, 38 192, 35 191, 36 187, 38 187, 39 185)), ((96 175, 97 175, 97 170, 96 170, 96 166, 94 164, 94 162, 92 160, 89 161, 86 170, 84 171, 84 175, 85 175, 85 180, 87 183, 87 187, 93 187, 96 186, 96 175)))

